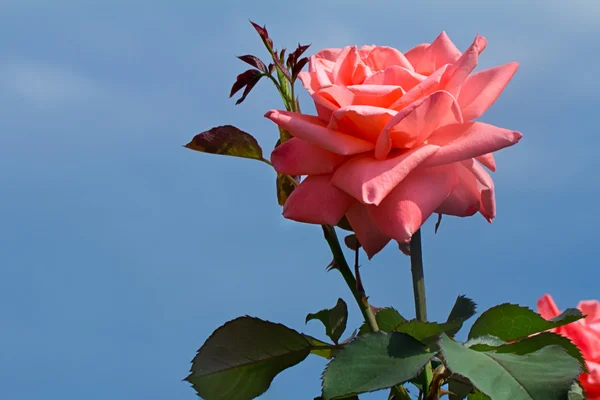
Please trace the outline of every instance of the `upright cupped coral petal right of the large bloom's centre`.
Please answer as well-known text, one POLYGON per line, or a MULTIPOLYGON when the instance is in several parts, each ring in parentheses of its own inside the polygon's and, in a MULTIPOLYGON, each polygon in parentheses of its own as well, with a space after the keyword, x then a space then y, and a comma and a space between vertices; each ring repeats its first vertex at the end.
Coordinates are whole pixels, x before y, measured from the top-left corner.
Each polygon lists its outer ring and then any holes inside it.
POLYGON ((381 160, 392 148, 411 148, 423 143, 449 115, 453 116, 453 122, 462 122, 456 100, 445 91, 432 93, 412 103, 385 127, 377 140, 375 157, 381 160))

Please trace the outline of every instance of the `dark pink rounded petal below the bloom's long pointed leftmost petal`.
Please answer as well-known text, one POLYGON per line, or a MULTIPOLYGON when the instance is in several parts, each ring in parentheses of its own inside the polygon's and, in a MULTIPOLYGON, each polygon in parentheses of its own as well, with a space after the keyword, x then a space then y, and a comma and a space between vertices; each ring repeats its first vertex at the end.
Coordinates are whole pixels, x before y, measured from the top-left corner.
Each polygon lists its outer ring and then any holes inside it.
POLYGON ((275 170, 286 175, 330 174, 345 160, 345 156, 298 138, 285 141, 271 153, 275 170))

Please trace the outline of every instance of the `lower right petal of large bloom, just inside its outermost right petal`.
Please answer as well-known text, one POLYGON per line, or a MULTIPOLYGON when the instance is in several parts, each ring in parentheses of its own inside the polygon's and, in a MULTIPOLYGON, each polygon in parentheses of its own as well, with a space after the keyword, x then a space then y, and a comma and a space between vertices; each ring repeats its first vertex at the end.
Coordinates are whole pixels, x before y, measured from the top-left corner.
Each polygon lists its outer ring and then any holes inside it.
POLYGON ((479 211, 481 202, 477 179, 460 163, 451 164, 448 168, 454 168, 458 184, 435 212, 457 217, 470 217, 479 211))

